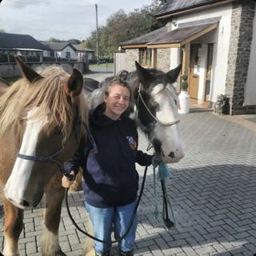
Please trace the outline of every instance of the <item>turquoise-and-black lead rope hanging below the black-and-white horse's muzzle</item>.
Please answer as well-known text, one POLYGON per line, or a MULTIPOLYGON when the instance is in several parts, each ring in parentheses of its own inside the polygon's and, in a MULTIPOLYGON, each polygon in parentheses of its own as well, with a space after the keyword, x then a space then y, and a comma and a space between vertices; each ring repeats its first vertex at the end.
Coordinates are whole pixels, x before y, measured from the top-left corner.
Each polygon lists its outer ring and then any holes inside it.
POLYGON ((154 217, 159 218, 159 210, 158 210, 158 198, 156 192, 156 177, 160 179, 161 186, 162 186, 162 197, 163 197, 163 205, 162 205, 162 219, 170 230, 171 227, 176 226, 175 218, 174 218, 174 210, 171 206, 170 199, 166 193, 166 178, 170 178, 170 167, 166 165, 164 162, 158 163, 158 174, 156 174, 156 167, 157 165, 154 164, 154 199, 155 199, 155 206, 154 206, 154 217), (171 211, 173 222, 170 221, 169 214, 168 214, 168 206, 171 211))

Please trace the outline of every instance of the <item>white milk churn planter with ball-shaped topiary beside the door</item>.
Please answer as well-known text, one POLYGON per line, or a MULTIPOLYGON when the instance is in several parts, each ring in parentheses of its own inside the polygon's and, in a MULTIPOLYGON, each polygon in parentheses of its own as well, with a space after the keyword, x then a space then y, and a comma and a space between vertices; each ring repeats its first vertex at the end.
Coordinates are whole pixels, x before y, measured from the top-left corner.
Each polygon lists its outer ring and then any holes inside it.
POLYGON ((182 75, 182 83, 180 85, 181 92, 178 95, 179 99, 179 110, 180 114, 188 114, 190 112, 190 95, 187 93, 189 84, 187 82, 187 75, 182 75))

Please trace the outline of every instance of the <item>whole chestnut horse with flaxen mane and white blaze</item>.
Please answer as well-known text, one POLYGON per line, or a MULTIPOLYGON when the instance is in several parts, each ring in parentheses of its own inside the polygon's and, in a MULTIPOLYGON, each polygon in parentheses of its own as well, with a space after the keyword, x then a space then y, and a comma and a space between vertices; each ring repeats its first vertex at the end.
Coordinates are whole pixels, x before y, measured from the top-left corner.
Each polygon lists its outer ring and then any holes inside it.
POLYGON ((42 255, 65 255, 58 242, 64 188, 60 167, 74 155, 87 122, 79 70, 51 66, 36 72, 20 58, 22 77, 0 87, 0 183, 3 188, 3 254, 18 254, 23 211, 45 194, 42 255))

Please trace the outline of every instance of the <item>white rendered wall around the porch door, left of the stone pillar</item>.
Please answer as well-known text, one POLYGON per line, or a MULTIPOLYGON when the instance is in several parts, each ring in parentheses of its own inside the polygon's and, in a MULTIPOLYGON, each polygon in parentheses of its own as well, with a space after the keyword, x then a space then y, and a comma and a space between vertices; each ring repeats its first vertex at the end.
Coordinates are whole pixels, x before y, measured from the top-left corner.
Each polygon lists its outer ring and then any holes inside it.
MULTIPOLYGON (((227 62, 228 53, 230 47, 230 30, 231 30, 231 15, 232 15, 232 5, 228 4, 225 6, 217 6, 210 10, 202 10, 199 12, 194 12, 191 14, 181 15, 176 19, 178 23, 183 22, 194 22, 207 18, 218 18, 220 17, 218 29, 215 32, 210 32, 201 38, 198 38, 195 42, 204 43, 214 43, 214 60, 213 62, 213 72, 210 85, 210 101, 215 102, 218 94, 225 93, 226 84, 226 72, 227 72, 227 62)), ((205 47, 205 46, 203 46, 205 47)), ((207 51, 202 50, 202 58, 207 58, 207 51), (204 54, 204 55, 203 55, 204 54)), ((206 61, 206 59, 205 59, 206 61)), ((202 62, 203 64, 204 62, 202 62)), ((198 88, 198 99, 199 102, 203 100, 204 97, 204 75, 205 66, 202 66, 200 70, 200 81, 198 88), (201 79, 202 78, 202 79, 201 79)))

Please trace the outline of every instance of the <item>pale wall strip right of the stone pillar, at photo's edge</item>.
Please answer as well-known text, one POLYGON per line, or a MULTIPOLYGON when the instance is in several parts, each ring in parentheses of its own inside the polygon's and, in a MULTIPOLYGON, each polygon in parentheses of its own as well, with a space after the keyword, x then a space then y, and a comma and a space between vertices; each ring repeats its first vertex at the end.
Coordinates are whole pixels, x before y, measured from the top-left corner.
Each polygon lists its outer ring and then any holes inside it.
MULTIPOLYGON (((256 12, 255 12, 256 13, 256 12)), ((256 105, 256 15, 254 16, 254 34, 250 46, 250 62, 246 80, 244 105, 256 105)))

